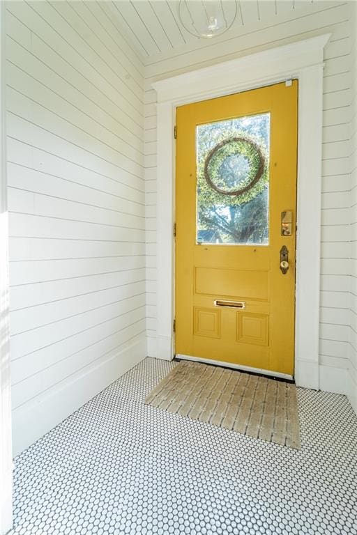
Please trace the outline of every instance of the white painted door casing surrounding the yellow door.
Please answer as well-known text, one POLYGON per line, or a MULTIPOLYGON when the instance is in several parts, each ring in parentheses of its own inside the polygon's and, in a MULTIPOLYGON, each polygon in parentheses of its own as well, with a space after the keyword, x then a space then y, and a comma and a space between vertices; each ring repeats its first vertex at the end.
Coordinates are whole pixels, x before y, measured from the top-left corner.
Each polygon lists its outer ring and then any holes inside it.
MULTIPOLYGON (((298 79, 295 379, 319 389, 322 82, 331 34, 154 82, 158 117, 157 356, 174 357, 174 121, 190 102, 298 79)), ((179 135, 179 133, 178 133, 179 135)), ((178 229, 179 232, 179 229, 178 229)))

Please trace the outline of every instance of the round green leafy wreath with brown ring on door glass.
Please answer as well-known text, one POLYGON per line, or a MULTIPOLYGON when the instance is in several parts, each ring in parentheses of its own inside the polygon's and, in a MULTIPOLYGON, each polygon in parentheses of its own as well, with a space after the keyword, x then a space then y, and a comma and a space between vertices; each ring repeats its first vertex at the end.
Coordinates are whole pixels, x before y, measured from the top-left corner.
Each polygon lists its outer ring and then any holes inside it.
POLYGON ((206 183, 222 195, 241 196, 249 192, 264 175, 266 162, 261 148, 248 137, 230 137, 213 147, 204 162, 206 183), (242 157, 248 167, 245 176, 237 176, 236 184, 225 182, 222 164, 230 157, 242 157))

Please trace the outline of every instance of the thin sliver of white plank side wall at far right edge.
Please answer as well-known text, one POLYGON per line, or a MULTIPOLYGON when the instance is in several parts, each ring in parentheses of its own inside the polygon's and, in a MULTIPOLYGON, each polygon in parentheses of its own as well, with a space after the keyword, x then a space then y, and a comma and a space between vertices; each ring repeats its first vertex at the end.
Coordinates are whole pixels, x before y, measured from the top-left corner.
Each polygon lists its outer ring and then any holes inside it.
POLYGON ((357 412, 357 3, 351 3, 351 286, 349 399, 357 412))

